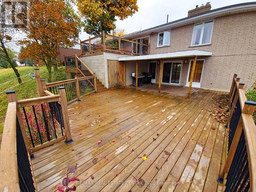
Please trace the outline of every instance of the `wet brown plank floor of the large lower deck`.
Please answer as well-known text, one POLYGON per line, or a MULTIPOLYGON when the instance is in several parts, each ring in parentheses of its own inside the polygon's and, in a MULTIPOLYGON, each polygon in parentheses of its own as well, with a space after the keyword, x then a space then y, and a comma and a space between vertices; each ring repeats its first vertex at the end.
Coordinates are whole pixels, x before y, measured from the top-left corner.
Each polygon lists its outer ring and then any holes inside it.
POLYGON ((218 94, 197 90, 188 100, 182 91, 126 89, 83 97, 69 105, 74 142, 34 154, 38 190, 56 191, 69 163, 78 167, 77 191, 220 190, 226 130, 210 116, 218 94))

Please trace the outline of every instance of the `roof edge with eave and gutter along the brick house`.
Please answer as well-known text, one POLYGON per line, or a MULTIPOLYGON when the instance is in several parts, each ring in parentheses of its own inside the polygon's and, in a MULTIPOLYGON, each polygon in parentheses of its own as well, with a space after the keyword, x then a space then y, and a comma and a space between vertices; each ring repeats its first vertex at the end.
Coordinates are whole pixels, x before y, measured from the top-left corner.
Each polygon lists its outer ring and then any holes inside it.
POLYGON ((225 13, 233 13, 233 12, 240 13, 240 12, 249 12, 249 11, 256 11, 256 2, 241 3, 241 4, 235 4, 235 5, 230 5, 230 6, 226 6, 226 7, 221 7, 218 9, 213 9, 213 10, 206 11, 203 13, 198 13, 193 16, 181 18, 181 19, 175 20, 173 22, 169 22, 167 24, 162 24, 162 25, 148 28, 148 29, 145 29, 142 31, 133 32, 133 33, 124 35, 123 37, 124 38, 132 38, 132 37, 136 37, 136 36, 140 36, 140 35, 149 34, 151 32, 158 31, 158 30, 165 29, 165 28, 180 27, 180 26, 184 26, 184 25, 193 23, 199 19, 218 17, 218 16, 222 16, 225 13))

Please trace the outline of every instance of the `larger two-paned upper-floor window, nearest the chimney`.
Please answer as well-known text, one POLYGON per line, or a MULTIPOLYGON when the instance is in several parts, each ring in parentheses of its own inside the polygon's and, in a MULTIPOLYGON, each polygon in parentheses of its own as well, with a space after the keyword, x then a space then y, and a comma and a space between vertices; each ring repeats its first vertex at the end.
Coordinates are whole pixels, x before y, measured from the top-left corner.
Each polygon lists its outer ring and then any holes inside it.
POLYGON ((195 25, 192 46, 209 44, 213 25, 213 21, 195 25))

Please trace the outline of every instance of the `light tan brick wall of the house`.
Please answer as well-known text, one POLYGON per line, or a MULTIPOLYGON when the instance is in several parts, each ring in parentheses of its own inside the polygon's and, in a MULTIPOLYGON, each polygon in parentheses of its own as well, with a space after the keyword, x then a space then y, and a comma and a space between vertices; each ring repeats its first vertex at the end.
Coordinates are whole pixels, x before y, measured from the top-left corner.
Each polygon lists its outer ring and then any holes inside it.
MULTIPOLYGON (((168 47, 157 48, 157 33, 150 35, 150 53, 211 51, 213 55, 205 58, 201 87, 229 91, 233 74, 237 73, 245 89, 249 89, 256 80, 256 12, 215 18, 211 45, 207 46, 190 47, 193 27, 172 29, 168 47)), ((184 85, 188 65, 182 67, 184 85)))

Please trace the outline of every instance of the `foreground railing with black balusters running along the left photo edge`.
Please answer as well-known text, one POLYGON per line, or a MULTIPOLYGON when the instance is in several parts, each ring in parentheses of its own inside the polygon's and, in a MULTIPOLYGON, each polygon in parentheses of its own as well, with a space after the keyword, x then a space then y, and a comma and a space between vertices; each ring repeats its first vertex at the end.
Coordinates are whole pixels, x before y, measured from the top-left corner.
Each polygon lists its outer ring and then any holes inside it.
POLYGON ((17 118, 17 103, 9 102, 0 151, 0 190, 35 191, 31 161, 17 118))

